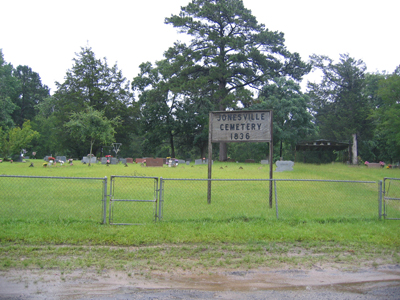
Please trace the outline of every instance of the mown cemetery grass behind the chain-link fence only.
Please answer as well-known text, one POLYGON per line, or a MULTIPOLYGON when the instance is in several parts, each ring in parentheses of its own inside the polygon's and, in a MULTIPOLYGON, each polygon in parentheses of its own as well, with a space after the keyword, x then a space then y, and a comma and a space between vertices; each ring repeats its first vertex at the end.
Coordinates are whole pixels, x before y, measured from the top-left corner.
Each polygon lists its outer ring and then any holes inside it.
MULTIPOLYGON (((5 175, 46 178, 1 177, 0 189, 4 192, 0 220, 102 222, 103 200, 106 200, 103 179, 108 179, 109 194, 112 175, 115 176, 112 199, 120 201, 112 201, 112 205, 107 202, 105 207, 106 218, 111 217, 110 223, 114 224, 154 222, 158 215, 162 216, 163 221, 171 222, 274 220, 278 217, 281 220, 373 220, 379 216, 377 181, 382 180, 384 176, 398 173, 398 170, 355 168, 340 164, 296 164, 293 172, 275 173, 275 178, 279 181, 276 182, 276 190, 273 189, 270 207, 269 182, 260 180, 268 179, 269 167, 259 164, 215 163, 213 179, 225 180, 212 182, 211 204, 207 203, 207 181, 193 180, 206 178, 207 166, 204 165, 146 168, 137 164, 131 164, 129 167, 122 164, 95 164, 88 167, 76 162, 74 166, 45 168, 41 166, 41 161, 34 161, 34 164, 36 167, 33 168, 28 167, 27 163, 1 164, 2 174, 5 175), (150 178, 153 176, 157 179, 150 178), (82 177, 85 179, 75 179, 82 177), (160 178, 163 178, 161 211, 159 203, 156 202, 160 201, 157 191, 160 178), (303 179, 313 181, 299 181, 303 179)), ((393 190, 394 188, 391 191, 393 190)), ((109 197, 106 198, 109 200, 109 197)), ((388 213, 391 217, 400 217, 394 206, 390 207, 388 213)))

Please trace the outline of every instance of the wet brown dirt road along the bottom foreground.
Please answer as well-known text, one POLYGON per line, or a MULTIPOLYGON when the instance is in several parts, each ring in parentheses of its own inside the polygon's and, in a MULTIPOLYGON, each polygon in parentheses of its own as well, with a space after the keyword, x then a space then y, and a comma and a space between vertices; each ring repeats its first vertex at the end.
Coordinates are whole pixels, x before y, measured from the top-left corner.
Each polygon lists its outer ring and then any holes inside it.
POLYGON ((0 299, 400 299, 400 265, 213 273, 0 272, 0 299))

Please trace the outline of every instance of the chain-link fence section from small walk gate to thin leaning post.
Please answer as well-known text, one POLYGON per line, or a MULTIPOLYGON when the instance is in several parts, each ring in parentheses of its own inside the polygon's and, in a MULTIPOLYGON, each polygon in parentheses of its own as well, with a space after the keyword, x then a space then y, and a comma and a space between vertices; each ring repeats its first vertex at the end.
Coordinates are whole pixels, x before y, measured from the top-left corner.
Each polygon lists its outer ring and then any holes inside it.
POLYGON ((207 179, 161 179, 162 219, 227 220, 274 218, 269 207, 269 180, 213 179, 208 204, 207 179))

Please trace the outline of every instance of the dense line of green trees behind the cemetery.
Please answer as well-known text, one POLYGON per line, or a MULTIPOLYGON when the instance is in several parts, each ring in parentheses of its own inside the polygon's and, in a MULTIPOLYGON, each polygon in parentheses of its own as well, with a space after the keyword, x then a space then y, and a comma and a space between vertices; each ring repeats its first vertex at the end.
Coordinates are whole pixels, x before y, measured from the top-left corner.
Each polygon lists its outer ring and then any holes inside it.
MULTIPOLYGON (((31 68, 14 68, 0 52, 0 156, 22 149, 40 158, 113 155, 111 143, 118 142, 120 157, 205 157, 210 111, 273 109, 276 159, 294 159, 302 140, 349 142, 356 134, 360 162, 399 160, 400 68, 367 73, 349 54, 336 63, 320 55, 305 62, 286 48, 283 33, 258 23, 239 0, 192 1, 165 23, 191 42, 141 64, 132 81, 81 48, 53 95, 31 68), (303 93, 300 83, 313 68, 322 71, 321 82, 303 93), (13 134, 24 126, 29 139, 13 134)), ((213 149, 219 160, 268 155, 266 143, 213 149)), ((297 155, 348 160, 347 153, 297 155)))

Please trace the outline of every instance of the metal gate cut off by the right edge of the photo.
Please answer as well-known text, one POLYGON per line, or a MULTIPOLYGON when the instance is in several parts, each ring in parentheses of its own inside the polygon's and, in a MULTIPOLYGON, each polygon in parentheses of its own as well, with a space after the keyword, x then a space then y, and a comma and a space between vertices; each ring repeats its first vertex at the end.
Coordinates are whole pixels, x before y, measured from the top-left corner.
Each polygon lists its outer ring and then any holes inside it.
POLYGON ((383 178, 383 215, 400 220, 400 178, 383 178))

